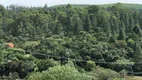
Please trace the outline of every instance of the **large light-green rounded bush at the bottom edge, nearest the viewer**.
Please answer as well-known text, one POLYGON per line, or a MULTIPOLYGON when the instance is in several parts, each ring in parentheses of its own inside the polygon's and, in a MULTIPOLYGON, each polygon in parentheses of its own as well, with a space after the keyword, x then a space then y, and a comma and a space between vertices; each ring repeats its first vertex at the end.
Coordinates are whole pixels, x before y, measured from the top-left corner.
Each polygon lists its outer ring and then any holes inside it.
POLYGON ((42 73, 33 73, 28 80, 97 80, 95 77, 78 72, 74 67, 55 66, 42 73))

